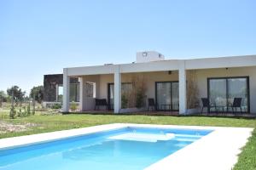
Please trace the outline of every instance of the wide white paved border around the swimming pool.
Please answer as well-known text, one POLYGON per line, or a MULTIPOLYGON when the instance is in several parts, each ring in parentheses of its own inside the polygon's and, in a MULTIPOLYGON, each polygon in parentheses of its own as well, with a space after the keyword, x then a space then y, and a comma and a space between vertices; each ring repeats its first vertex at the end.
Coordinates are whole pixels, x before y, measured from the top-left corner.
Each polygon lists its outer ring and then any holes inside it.
POLYGON ((241 152, 241 147, 247 143, 247 139, 251 136, 253 131, 253 128, 247 127, 200 127, 114 123, 95 127, 84 127, 52 133, 39 133, 0 139, 0 150, 29 144, 38 144, 56 139, 66 139, 122 127, 167 127, 214 130, 207 136, 196 140, 194 143, 189 144, 172 155, 155 162, 153 165, 147 167, 146 170, 230 170, 236 164, 237 155, 241 152))

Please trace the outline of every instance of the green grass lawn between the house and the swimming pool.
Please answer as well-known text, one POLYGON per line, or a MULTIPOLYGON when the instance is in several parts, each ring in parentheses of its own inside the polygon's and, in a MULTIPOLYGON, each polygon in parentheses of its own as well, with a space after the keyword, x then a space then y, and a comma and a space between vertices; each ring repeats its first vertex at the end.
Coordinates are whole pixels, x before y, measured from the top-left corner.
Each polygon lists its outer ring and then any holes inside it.
MULTIPOLYGON (((33 133, 45 133, 56 130, 90 127, 115 122, 169 124, 169 125, 197 125, 218 127, 256 127, 256 120, 236 118, 216 118, 200 116, 115 116, 115 115, 55 115, 55 116, 28 116, 14 120, 3 119, 13 124, 37 124, 29 127, 30 130, 20 133, 2 133, 1 138, 8 138, 33 133)), ((239 157, 235 170, 256 169, 256 130, 239 157)))

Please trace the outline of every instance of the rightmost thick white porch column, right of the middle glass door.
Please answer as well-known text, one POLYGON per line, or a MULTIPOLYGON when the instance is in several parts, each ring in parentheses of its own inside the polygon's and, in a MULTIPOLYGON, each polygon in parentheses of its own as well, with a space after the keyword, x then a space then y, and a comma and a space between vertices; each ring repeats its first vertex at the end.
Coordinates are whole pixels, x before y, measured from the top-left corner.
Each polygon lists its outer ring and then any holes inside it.
POLYGON ((179 114, 187 111, 187 87, 186 87, 185 61, 181 60, 178 69, 178 88, 179 88, 179 114))

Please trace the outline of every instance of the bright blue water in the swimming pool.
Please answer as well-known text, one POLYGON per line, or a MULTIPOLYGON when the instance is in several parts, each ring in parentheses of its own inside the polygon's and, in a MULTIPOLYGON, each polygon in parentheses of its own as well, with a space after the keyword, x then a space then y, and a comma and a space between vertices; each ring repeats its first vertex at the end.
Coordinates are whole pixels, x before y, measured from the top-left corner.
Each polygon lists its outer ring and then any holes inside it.
POLYGON ((0 150, 0 169, 143 169, 211 132, 125 127, 0 150))

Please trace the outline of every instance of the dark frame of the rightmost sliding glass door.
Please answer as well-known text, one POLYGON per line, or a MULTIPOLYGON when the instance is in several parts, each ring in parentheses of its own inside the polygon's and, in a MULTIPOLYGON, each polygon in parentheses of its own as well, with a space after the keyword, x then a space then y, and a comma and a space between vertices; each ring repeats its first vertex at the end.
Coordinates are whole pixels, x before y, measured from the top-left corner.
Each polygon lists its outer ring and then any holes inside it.
MULTIPOLYGON (((226 99, 227 99, 227 105, 228 105, 228 99, 229 99, 229 79, 238 79, 238 78, 246 78, 247 79, 247 113, 250 113, 251 107, 250 107, 250 77, 207 77, 207 98, 210 99, 210 81, 211 80, 225 80, 226 81, 226 99)), ((209 108, 208 108, 208 112, 209 108)), ((229 112, 228 110, 226 112, 229 112)))

